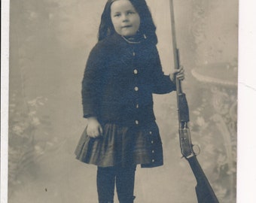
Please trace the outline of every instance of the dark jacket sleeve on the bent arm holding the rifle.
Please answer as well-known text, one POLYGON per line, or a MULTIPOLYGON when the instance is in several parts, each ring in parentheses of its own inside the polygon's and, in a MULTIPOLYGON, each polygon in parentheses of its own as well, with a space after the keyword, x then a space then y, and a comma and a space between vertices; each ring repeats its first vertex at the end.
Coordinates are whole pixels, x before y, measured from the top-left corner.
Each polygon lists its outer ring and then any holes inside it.
POLYGON ((166 94, 176 89, 175 83, 169 78, 169 75, 163 74, 162 65, 160 62, 160 56, 157 51, 157 47, 154 49, 154 84, 153 93, 166 94))

